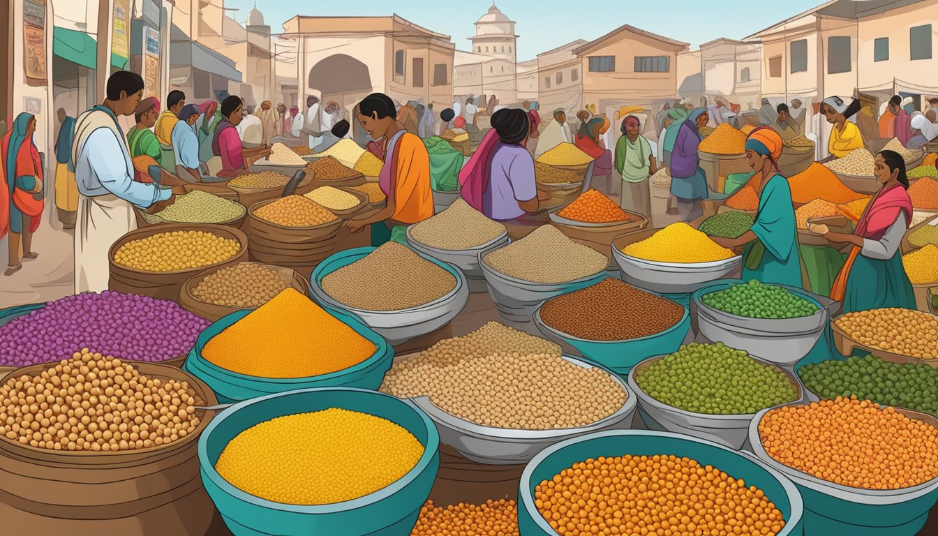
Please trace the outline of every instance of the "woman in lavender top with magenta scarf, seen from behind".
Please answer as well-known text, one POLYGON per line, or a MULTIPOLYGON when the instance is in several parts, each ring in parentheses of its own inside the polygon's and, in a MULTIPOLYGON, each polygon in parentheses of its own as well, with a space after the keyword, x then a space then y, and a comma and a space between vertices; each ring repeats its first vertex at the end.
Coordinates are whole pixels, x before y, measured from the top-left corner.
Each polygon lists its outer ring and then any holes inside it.
POLYGON ((523 110, 492 114, 492 130, 460 172, 466 203, 497 222, 537 212, 534 159, 525 148, 530 135, 530 119, 523 110))

